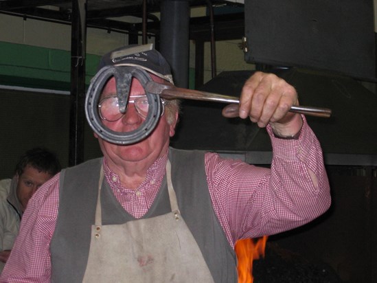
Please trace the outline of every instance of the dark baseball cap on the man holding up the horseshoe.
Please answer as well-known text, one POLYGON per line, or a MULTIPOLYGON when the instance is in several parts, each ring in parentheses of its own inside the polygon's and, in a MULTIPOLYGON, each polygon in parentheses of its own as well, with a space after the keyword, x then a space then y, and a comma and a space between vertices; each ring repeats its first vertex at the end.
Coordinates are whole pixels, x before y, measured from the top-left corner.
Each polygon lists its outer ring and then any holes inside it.
POLYGON ((98 65, 98 70, 105 66, 135 66, 154 75, 173 82, 170 65, 161 53, 153 48, 153 44, 128 45, 119 47, 104 54, 98 65))

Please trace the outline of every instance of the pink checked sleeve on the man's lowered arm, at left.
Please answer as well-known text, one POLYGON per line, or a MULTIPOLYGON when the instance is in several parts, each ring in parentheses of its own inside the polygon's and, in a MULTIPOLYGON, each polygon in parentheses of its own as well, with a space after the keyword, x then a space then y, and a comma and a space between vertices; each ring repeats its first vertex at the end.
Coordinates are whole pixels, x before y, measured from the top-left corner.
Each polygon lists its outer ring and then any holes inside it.
POLYGON ((58 215, 59 174, 49 179, 32 196, 21 220, 0 282, 50 282, 49 244, 58 215))

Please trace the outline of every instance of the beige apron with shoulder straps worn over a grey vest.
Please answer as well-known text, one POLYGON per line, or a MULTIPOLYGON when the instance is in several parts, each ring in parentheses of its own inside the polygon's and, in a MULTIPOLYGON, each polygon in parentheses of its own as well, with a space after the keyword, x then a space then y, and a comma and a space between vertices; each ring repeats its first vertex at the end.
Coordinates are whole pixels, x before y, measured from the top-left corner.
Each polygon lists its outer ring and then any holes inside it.
POLYGON ((83 282, 214 282, 179 213, 170 161, 166 179, 172 212, 122 225, 102 225, 100 190, 83 282))

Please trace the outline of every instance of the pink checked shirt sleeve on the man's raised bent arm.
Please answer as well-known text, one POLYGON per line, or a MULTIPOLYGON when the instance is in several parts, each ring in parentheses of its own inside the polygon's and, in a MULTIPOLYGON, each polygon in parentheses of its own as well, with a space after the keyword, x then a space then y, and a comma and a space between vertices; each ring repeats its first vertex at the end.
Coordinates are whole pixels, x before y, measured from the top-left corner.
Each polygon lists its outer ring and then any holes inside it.
POLYGON ((214 210, 231 245, 240 238, 277 234, 304 225, 330 207, 330 185, 317 137, 306 120, 299 139, 279 139, 271 168, 207 153, 214 210))

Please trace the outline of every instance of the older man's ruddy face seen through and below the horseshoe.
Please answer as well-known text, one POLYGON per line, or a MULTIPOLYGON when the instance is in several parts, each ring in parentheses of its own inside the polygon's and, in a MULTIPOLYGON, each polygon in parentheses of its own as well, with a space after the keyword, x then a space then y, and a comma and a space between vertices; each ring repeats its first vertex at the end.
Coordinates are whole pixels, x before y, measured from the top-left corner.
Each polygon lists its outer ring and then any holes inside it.
MULTIPOLYGON (((153 76, 152 79, 157 82, 163 82, 163 79, 153 76)), ((111 78, 108 81, 104 90, 102 91, 101 99, 108 96, 116 95, 115 79, 111 78)), ((145 91, 138 80, 133 78, 130 88, 130 98, 133 100, 133 97, 137 95, 145 95, 145 91)), ((170 137, 175 133, 176 120, 178 119, 178 113, 174 115, 173 122, 171 124, 166 120, 166 113, 161 116, 157 127, 152 133, 143 139, 142 141, 137 142, 136 144, 131 144, 127 146, 121 146, 117 144, 111 144, 108 141, 104 141, 102 138, 98 137, 95 134, 95 137, 98 138, 100 147, 104 156, 108 159, 109 165, 115 166, 125 166, 126 164, 133 164, 133 166, 141 166, 148 168, 156 159, 161 157, 168 150, 170 137)), ((134 131, 140 127, 145 118, 141 117, 135 109, 133 103, 129 103, 125 115, 115 121, 108 122, 102 120, 104 125, 109 129, 115 132, 130 132, 134 131)), ((111 166, 112 167, 112 166, 111 166)))

